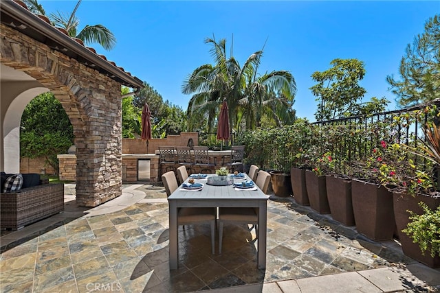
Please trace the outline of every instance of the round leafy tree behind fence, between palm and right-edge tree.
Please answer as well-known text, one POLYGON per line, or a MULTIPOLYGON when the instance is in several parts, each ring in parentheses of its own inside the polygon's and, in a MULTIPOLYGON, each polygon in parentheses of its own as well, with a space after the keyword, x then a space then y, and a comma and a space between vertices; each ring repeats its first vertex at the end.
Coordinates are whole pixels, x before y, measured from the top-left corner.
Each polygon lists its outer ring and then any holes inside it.
POLYGON ((364 78, 364 62, 358 59, 335 59, 333 67, 316 71, 311 78, 318 82, 310 88, 318 102, 317 121, 337 119, 351 115, 351 109, 359 104, 366 90, 359 85, 364 78))

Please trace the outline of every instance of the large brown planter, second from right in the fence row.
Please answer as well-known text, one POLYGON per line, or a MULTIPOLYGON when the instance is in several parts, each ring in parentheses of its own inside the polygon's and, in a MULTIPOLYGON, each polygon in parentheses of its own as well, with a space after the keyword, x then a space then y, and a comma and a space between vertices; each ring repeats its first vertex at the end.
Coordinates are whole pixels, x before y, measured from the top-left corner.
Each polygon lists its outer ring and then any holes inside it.
POLYGON ((356 229, 375 241, 393 239, 393 194, 384 186, 351 180, 351 200, 356 229))

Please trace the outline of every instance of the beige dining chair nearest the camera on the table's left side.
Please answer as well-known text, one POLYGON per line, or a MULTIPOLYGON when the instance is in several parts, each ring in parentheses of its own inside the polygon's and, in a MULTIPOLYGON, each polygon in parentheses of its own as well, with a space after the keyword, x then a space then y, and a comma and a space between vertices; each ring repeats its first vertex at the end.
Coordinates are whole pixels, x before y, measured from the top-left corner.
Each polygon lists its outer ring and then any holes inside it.
MULTIPOLYGON (((162 174, 166 196, 170 196, 179 188, 173 171, 162 174)), ((211 253, 215 253, 215 224, 217 219, 217 208, 213 207, 181 207, 177 211, 177 225, 191 225, 209 223, 211 228, 211 253)))

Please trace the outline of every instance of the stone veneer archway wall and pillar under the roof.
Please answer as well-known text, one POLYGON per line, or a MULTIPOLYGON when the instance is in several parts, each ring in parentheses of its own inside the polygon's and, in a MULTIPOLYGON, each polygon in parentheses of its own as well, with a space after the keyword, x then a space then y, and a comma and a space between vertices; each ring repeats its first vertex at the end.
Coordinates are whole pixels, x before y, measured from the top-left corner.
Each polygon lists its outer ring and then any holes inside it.
POLYGON ((74 126, 78 204, 96 207, 120 196, 121 85, 7 25, 0 37, 1 63, 54 93, 74 126))

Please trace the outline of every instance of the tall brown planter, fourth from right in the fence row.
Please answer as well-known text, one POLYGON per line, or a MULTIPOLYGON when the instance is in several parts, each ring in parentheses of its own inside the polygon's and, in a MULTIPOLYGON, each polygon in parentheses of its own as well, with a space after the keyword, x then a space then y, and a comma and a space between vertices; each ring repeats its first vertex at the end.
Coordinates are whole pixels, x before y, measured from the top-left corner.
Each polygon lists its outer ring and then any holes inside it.
POLYGON ((325 176, 318 176, 311 170, 305 172, 305 184, 309 196, 310 207, 318 213, 330 213, 329 200, 327 200, 327 189, 325 187, 325 176))

